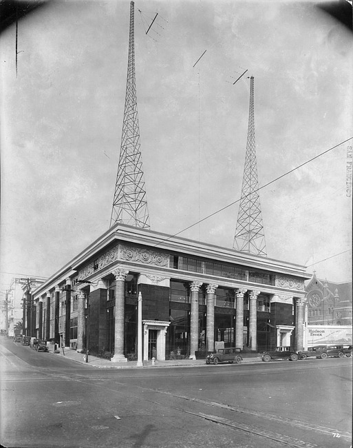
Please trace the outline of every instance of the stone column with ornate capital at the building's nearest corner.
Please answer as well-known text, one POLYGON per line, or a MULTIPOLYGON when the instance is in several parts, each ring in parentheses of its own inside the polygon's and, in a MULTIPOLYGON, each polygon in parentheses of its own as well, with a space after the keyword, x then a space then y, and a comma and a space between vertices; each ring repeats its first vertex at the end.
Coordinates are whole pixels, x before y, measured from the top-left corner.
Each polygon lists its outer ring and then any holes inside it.
POLYGON ((115 276, 115 338, 113 363, 127 362, 124 356, 124 333, 125 333, 125 278, 129 271, 118 267, 112 272, 115 276))

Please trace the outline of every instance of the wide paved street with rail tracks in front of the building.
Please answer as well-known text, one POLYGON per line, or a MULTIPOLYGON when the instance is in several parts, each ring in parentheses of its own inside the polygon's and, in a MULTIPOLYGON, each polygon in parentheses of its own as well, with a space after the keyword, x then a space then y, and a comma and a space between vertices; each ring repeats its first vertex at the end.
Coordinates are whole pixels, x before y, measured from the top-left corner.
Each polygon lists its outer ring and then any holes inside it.
POLYGON ((1 338, 5 447, 350 447, 352 358, 102 369, 1 338))

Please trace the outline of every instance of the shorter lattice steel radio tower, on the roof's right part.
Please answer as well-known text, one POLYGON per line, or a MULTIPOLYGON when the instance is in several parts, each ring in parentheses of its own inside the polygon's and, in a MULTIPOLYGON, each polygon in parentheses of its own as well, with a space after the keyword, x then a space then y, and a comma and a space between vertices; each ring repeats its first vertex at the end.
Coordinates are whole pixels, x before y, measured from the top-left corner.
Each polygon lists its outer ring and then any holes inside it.
POLYGON ((248 141, 246 143, 242 196, 233 249, 266 256, 264 225, 262 224, 258 188, 255 149, 254 77, 250 77, 248 141))

